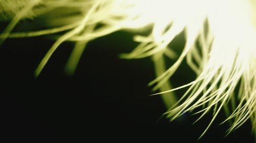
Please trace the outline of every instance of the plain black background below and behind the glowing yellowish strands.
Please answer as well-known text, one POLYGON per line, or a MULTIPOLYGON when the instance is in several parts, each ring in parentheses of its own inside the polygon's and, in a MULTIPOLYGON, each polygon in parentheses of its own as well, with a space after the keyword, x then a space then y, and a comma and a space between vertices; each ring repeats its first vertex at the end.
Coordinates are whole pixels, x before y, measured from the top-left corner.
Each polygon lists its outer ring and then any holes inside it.
MULTIPOLYGON (((150 58, 122 60, 136 46, 132 35, 117 32, 90 42, 77 71, 63 71, 73 44, 62 44, 38 78, 33 72, 53 44, 45 37, 8 39, 0 49, 1 142, 254 142, 251 124, 229 136, 219 118, 197 140, 212 115, 185 114, 174 122, 147 83, 155 78, 150 58)), ((179 44, 179 43, 177 43, 179 44)), ((193 79, 186 66, 172 78, 174 87, 193 79)), ((182 90, 176 94, 182 94, 182 90)))

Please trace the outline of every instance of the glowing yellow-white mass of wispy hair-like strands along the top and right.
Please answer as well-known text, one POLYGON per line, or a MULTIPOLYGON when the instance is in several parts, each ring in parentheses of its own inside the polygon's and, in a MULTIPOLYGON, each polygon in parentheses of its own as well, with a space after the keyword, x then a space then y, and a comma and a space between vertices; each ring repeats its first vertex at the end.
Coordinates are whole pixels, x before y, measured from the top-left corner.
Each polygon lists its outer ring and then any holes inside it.
POLYGON ((88 42, 116 31, 130 31, 137 34, 134 41, 139 45, 121 58, 153 57, 158 76, 149 85, 154 85, 154 91, 162 91, 155 95, 170 95, 172 91, 188 88, 177 102, 175 97, 163 97, 166 104, 172 105, 165 113, 170 120, 198 107, 204 107, 197 112, 202 113, 201 117, 213 109, 214 115, 203 136, 224 108, 228 115, 224 122, 232 121, 228 133, 248 119, 256 132, 256 2, 253 0, 0 0, 0 8, 0 20, 10 20, 0 35, 0 44, 7 38, 55 34, 56 42, 38 65, 35 76, 65 41, 76 43, 66 66, 67 73, 73 74, 88 42), (51 14, 47 19, 49 28, 12 32, 22 19, 47 14, 51 14), (138 32, 143 30, 152 33, 142 36, 138 32), (183 31, 186 43, 178 56, 168 45, 183 31), (163 57, 176 62, 165 69, 163 57), (197 78, 172 89, 168 80, 184 60, 197 78))

